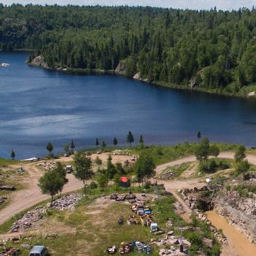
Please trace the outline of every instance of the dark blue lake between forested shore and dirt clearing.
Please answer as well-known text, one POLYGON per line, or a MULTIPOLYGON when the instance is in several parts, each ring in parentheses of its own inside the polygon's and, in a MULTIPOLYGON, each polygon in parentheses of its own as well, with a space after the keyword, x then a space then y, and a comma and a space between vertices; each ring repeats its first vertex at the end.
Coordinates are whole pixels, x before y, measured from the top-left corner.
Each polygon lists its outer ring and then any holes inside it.
POLYGON ((115 75, 68 75, 29 67, 27 53, 0 52, 0 157, 42 157, 75 140, 124 145, 131 130, 147 144, 210 140, 256 146, 256 101, 165 89, 115 75))

